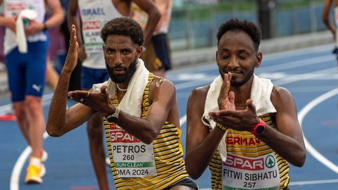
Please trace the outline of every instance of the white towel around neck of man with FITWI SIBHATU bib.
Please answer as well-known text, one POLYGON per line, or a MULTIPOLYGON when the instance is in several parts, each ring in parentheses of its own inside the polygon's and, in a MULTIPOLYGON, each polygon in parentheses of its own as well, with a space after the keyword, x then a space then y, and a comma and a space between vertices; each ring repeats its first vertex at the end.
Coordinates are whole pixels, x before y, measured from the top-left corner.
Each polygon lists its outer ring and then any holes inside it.
MULTIPOLYGON (((219 75, 211 83, 208 94, 206 95, 206 103, 204 106, 204 114, 201 118, 202 122, 208 120, 210 125, 207 122, 204 122, 204 125, 215 127, 215 122, 210 119, 208 113, 211 110, 219 110, 218 108, 218 96, 220 94, 220 88, 222 87, 223 79, 219 75), (204 118, 204 119, 203 119, 204 118)), ((253 99, 253 105, 256 106, 257 115, 263 115, 265 113, 275 113, 275 107, 270 101, 271 91, 273 91, 273 83, 270 80, 259 78, 256 75, 253 75, 253 83, 251 87, 251 99, 253 99)), ((227 148, 225 144, 225 137, 227 133, 223 136, 223 139, 218 145, 218 151, 220 152, 220 157, 223 162, 227 159, 227 148)))

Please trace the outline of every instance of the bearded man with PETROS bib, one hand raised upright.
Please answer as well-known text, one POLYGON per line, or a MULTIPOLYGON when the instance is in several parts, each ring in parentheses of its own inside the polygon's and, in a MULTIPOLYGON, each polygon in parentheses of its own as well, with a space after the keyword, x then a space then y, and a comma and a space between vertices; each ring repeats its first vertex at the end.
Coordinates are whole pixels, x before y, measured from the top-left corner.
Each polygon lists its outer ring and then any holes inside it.
POLYGON ((67 93, 77 63, 75 26, 49 109, 52 137, 79 127, 94 113, 104 121, 116 189, 198 189, 185 170, 175 86, 146 70, 139 57, 144 33, 132 18, 115 18, 101 38, 110 79, 92 91, 67 93), (67 96, 79 103, 66 110, 67 96))

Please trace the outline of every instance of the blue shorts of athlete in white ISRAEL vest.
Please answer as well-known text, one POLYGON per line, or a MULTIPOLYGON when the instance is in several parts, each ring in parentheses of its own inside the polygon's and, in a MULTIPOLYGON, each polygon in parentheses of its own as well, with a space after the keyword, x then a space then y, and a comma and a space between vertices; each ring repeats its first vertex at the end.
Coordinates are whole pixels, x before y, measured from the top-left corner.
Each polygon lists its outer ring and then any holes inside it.
POLYGON ((92 89, 93 84, 102 83, 109 79, 106 69, 81 68, 81 88, 92 89))

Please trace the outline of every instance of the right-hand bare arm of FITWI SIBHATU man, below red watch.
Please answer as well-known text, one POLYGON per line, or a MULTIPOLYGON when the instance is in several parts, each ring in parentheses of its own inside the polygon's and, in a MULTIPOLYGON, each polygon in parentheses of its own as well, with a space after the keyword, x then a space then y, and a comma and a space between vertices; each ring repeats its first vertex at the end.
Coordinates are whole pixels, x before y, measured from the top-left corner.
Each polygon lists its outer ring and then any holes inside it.
POLYGON ((297 118, 296 103, 287 89, 276 86, 271 101, 277 110, 277 130, 267 126, 266 133, 259 138, 289 163, 301 167, 306 159, 306 148, 297 118))

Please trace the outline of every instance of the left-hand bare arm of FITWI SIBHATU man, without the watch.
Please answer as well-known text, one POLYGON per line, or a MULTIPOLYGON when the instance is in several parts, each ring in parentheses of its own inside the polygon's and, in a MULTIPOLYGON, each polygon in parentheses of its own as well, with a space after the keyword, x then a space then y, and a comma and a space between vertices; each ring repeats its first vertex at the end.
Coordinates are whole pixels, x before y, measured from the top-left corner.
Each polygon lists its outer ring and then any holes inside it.
POLYGON ((187 103, 187 142, 185 164, 192 179, 198 179, 208 167, 215 150, 225 134, 215 128, 209 133, 201 121, 206 94, 210 86, 194 89, 187 103))

